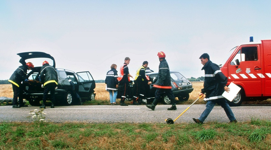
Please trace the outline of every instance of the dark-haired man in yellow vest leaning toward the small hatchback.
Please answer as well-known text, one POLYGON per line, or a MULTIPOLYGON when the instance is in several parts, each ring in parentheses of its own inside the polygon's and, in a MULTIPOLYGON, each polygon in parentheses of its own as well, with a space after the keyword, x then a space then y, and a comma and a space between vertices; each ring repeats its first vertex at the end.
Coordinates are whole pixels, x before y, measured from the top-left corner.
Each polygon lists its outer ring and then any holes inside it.
POLYGON ((142 99, 145 98, 146 85, 149 86, 151 84, 145 76, 146 67, 148 67, 148 61, 144 61, 143 65, 136 71, 133 89, 133 105, 146 104, 142 99), (138 101, 138 103, 136 101, 138 101))

